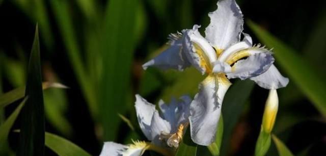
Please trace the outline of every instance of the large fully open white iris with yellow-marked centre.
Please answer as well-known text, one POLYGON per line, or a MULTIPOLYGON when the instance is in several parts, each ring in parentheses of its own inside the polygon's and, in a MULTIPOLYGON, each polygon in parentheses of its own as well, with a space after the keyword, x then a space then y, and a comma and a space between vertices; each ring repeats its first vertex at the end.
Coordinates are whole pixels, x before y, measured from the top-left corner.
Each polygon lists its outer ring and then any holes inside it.
POLYGON ((265 89, 288 84, 273 65, 271 50, 253 45, 251 37, 242 33, 243 15, 236 2, 224 0, 217 5, 218 9, 208 14, 205 37, 199 33, 199 25, 171 34, 170 47, 143 65, 144 69, 155 66, 180 71, 194 66, 207 75, 191 103, 189 116, 192 140, 205 146, 215 140, 222 101, 231 85, 229 79, 250 79, 265 89))

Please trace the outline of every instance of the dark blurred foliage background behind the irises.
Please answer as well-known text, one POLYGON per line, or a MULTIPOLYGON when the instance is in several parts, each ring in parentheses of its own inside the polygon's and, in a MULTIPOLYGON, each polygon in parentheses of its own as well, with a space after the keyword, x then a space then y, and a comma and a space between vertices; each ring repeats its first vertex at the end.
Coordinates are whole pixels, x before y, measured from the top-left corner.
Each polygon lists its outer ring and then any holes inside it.
MULTIPOLYGON (((278 64, 276 57, 276 66, 290 83, 278 90, 274 133, 295 155, 326 155, 325 118, 311 100, 313 95, 301 86, 316 83, 310 79, 315 76, 318 83, 326 83, 326 1, 237 3, 245 20, 256 22, 283 41, 316 71, 316 75, 305 75, 304 80, 311 82, 299 82, 301 79, 284 67, 287 58, 278 64)), ((207 14, 215 9, 216 0, 0 0, 0 93, 25 84, 38 23, 42 79, 69 87, 44 91, 46 131, 67 138, 92 155, 100 153, 103 141, 146 140, 139 133, 134 94, 152 103, 160 98, 170 102, 184 94, 193 97, 204 76, 194 68, 144 71, 142 64, 167 47, 170 33, 200 24, 203 34, 209 23, 207 14)), ((246 22, 244 32, 254 43, 261 42, 246 22)), ((225 133, 221 155, 253 155, 268 90, 251 81, 232 83, 222 110, 225 133)), ((17 105, 0 110, 0 123, 17 105)), ((19 118, 13 129, 18 127, 19 118)), ((17 134, 10 133, 13 151, 17 139, 17 134)), ((199 150, 199 155, 209 155, 206 148, 199 150)), ((46 149, 46 155, 56 154, 46 149)), ((275 145, 267 155, 277 155, 275 145)))

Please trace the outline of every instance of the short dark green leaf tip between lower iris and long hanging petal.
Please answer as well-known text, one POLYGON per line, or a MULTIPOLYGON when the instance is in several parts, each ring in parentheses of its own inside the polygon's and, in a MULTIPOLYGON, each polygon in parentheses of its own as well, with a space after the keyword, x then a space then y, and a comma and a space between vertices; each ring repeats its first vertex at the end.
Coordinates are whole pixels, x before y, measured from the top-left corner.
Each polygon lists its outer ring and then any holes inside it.
POLYGON ((195 144, 190 136, 190 129, 187 128, 186 133, 183 136, 183 140, 179 145, 179 148, 175 156, 196 156, 197 144, 195 144))

